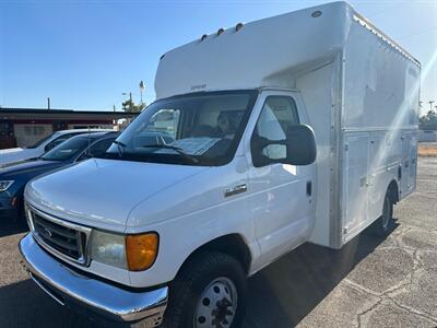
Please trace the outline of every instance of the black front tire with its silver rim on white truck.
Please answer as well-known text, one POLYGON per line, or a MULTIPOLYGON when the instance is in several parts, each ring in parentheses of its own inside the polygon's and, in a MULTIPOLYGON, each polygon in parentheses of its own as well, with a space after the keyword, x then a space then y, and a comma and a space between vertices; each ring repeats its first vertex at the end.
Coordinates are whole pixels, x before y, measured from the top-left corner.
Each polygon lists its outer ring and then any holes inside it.
POLYGON ((163 328, 238 328, 246 306, 246 273, 233 257, 199 253, 170 285, 163 328))

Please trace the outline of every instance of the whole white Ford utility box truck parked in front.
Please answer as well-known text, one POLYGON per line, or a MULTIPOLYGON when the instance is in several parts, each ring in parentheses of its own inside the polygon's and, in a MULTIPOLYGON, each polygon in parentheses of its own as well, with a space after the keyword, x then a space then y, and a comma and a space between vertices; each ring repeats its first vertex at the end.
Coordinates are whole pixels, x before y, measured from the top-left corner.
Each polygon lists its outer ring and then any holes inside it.
POLYGON ((173 49, 104 157, 27 184, 23 263, 123 324, 238 327, 247 277, 306 242, 390 232, 415 189, 420 72, 345 2, 173 49))

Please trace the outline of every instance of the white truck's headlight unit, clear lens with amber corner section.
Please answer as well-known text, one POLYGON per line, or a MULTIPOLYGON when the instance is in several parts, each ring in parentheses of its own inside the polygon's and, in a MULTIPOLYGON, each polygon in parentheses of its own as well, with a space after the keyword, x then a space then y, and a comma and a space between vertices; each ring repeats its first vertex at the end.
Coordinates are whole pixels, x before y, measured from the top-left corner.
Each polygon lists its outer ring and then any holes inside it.
POLYGON ((158 237, 155 233, 125 236, 94 231, 91 258, 117 268, 142 271, 155 261, 157 246, 158 237))

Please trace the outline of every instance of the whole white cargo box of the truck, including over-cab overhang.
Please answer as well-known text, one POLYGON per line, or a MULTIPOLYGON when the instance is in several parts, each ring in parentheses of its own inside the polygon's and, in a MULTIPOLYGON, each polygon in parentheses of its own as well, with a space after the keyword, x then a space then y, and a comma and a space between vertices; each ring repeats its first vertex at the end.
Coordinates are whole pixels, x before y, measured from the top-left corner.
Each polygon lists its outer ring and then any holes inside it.
POLYGON ((194 40, 166 52, 155 78, 157 98, 252 87, 303 97, 318 144, 311 242, 339 248, 378 218, 399 166, 410 167, 400 199, 414 190, 420 63, 347 3, 194 40))

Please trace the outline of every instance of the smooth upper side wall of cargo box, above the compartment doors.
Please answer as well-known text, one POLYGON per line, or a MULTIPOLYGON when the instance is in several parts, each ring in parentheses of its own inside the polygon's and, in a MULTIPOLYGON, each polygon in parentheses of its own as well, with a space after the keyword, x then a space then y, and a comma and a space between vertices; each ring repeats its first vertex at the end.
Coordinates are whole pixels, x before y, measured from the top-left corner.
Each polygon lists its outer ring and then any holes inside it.
POLYGON ((343 127, 415 128, 418 66, 356 21, 345 43, 343 127))

